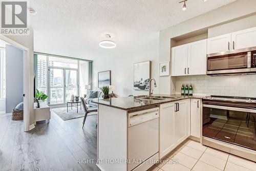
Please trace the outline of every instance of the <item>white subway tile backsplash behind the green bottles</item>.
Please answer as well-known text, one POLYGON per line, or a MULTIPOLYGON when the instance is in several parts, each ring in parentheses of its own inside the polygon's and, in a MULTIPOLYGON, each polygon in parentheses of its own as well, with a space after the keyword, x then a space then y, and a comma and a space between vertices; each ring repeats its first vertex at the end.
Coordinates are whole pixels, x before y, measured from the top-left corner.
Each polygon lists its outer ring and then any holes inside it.
POLYGON ((176 77, 177 94, 181 93, 182 83, 192 83, 194 95, 256 97, 256 75, 176 77))

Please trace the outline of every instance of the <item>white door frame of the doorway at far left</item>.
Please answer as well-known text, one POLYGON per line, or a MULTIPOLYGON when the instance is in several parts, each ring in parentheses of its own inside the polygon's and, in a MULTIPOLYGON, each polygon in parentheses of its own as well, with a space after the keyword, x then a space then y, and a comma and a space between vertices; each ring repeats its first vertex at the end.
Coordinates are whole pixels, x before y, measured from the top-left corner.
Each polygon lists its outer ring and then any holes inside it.
MULTIPOLYGON (((23 50, 23 94, 25 94, 25 96, 23 97, 23 102, 24 102, 24 110, 23 110, 23 126, 24 126, 24 131, 29 131, 32 130, 35 126, 34 124, 32 124, 31 126, 29 125, 29 118, 30 115, 33 115, 33 112, 30 112, 29 109, 29 100, 30 98, 33 97, 33 94, 29 94, 29 90, 30 90, 30 86, 29 86, 29 71, 30 71, 30 65, 29 65, 29 56, 30 52, 29 48, 20 45, 18 42, 0 34, 0 39, 8 42, 8 44, 23 50), (32 96, 32 97, 30 97, 32 96)), ((32 80, 31 80, 32 81, 32 80)), ((31 103, 31 106, 33 107, 33 103, 31 103)))

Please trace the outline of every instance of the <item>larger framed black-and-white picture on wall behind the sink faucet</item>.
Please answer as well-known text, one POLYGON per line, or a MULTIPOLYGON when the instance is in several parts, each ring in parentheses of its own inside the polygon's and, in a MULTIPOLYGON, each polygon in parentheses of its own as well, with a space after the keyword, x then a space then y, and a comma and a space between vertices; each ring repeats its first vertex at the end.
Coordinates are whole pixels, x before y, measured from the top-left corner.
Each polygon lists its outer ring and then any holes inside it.
POLYGON ((134 64, 134 90, 148 90, 151 61, 134 64))

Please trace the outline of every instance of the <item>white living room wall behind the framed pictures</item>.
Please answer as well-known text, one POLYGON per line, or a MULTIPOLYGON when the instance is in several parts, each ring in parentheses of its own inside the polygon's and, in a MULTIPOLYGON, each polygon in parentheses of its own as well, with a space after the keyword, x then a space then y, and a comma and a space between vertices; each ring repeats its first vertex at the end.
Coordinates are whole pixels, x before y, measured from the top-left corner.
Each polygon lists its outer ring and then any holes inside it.
POLYGON ((123 51, 123 53, 120 54, 115 54, 115 49, 106 49, 105 56, 98 56, 93 61, 92 90, 98 90, 98 72, 111 70, 111 84, 116 87, 116 91, 114 93, 117 96, 123 97, 131 94, 148 94, 148 91, 133 89, 133 67, 134 63, 151 60, 151 77, 156 78, 158 86, 157 88, 154 88, 154 93, 158 93, 159 34, 156 33, 152 36, 138 39, 134 43, 137 45, 136 48, 127 48, 127 52, 123 51))

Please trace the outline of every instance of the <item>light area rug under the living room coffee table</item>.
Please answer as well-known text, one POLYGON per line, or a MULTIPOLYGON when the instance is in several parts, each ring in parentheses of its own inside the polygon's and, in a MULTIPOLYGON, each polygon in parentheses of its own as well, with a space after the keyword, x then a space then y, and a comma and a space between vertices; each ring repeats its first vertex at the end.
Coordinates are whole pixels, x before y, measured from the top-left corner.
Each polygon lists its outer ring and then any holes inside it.
MULTIPOLYGON (((69 107, 68 112, 67 112, 67 107, 52 108, 51 111, 56 113, 63 120, 70 120, 70 119, 76 119, 76 118, 84 117, 84 111, 83 111, 83 109, 80 110, 79 106, 78 106, 78 113, 76 113, 76 108, 75 107, 73 107, 72 110, 69 107)), ((97 113, 92 112, 92 113, 88 114, 87 116, 91 116, 91 115, 97 115, 97 113)))

